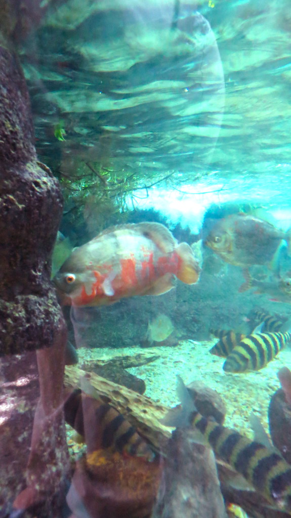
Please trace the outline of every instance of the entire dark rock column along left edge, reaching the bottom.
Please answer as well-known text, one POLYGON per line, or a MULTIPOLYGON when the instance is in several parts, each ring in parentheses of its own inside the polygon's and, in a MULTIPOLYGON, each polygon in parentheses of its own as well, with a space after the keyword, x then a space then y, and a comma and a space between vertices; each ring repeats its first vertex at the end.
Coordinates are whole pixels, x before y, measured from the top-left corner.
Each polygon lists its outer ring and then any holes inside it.
POLYGON ((50 282, 62 194, 37 162, 25 79, 7 40, 17 26, 13 8, 24 4, 0 0, 0 356, 21 353, 1 365, 1 505, 16 515, 38 507, 37 516, 53 518, 69 471, 67 334, 50 282))

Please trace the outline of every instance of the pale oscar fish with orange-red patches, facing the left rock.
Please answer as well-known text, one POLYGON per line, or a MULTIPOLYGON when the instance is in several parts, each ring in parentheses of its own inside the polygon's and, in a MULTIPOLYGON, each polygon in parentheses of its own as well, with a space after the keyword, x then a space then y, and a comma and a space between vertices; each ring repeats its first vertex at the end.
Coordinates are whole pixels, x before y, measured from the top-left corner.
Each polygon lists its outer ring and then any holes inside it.
POLYGON ((166 293, 173 276, 194 284, 199 274, 187 243, 178 244, 160 223, 138 223, 108 228, 75 248, 54 283, 62 304, 99 306, 133 295, 166 293))

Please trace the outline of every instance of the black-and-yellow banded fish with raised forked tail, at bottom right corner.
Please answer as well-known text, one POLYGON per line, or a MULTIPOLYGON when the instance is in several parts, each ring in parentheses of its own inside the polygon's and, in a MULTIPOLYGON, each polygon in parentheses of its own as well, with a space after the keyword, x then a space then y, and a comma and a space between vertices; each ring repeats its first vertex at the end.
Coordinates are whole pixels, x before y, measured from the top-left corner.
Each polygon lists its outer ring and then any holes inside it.
POLYGON ((272 506, 291 512, 291 466, 275 448, 252 441, 201 415, 183 380, 177 378, 181 410, 179 413, 170 410, 163 424, 193 427, 197 442, 209 444, 217 457, 240 473, 272 506))

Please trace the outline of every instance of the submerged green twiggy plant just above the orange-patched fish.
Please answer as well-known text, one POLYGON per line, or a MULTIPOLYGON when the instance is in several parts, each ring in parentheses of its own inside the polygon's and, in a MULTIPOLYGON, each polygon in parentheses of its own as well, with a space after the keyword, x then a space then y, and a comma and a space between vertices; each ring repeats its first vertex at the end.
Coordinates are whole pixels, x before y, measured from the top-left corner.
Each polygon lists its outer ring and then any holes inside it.
POLYGON ((75 161, 68 161, 54 173, 64 194, 64 221, 77 231, 85 222, 90 236, 106 226, 126 222, 140 198, 147 198, 156 185, 174 186, 176 178, 174 172, 153 172, 145 179, 130 167, 124 171, 100 162, 77 163, 77 169, 75 161))

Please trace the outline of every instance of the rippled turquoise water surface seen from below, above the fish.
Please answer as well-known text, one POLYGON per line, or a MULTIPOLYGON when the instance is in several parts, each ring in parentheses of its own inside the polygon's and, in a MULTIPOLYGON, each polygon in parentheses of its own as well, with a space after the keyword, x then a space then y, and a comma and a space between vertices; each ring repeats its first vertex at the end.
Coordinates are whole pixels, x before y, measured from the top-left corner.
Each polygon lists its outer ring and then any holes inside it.
MULTIPOLYGON (((22 56, 41 160, 64 189, 77 176, 99 191, 85 163, 101 167, 119 207, 121 182, 131 197, 133 180, 195 191, 200 179, 199 192, 227 181, 230 198, 287 207, 287 4, 141 4, 47 6, 22 56)), ((66 194, 70 210, 80 194, 66 194)))

